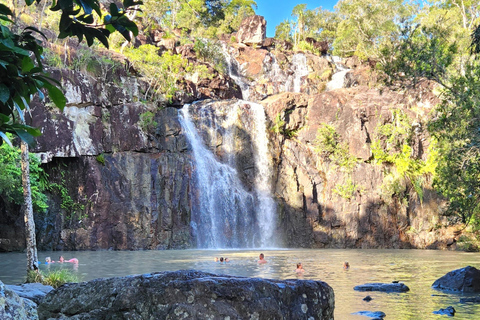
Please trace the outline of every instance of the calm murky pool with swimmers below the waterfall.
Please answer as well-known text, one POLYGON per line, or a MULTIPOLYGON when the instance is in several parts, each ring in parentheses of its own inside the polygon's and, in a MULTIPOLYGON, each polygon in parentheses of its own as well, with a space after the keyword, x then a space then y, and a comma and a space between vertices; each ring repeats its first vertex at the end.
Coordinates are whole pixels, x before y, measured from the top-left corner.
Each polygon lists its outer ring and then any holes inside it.
MULTIPOLYGON (((453 306, 455 319, 480 319, 480 304, 460 303, 465 295, 433 290, 432 283, 447 272, 467 265, 480 269, 480 253, 427 250, 265 250, 267 264, 256 263, 259 251, 245 250, 167 250, 167 251, 76 251, 40 252, 39 259, 51 256, 58 260, 78 258, 79 265, 64 263, 40 268, 71 268, 81 280, 124 276, 156 271, 196 269, 216 274, 273 279, 297 278, 294 270, 302 262, 307 270, 303 279, 322 280, 335 291, 335 319, 369 318, 353 315, 358 311, 383 311, 386 319, 442 319, 432 312, 453 306), (214 257, 228 257, 227 264, 214 257), (342 268, 343 262, 350 269, 342 268), (404 282, 407 293, 357 292, 353 287, 369 282, 404 282), (362 299, 370 295, 373 300, 362 299)), ((0 280, 17 284, 24 280, 26 256, 21 253, 0 254, 0 280)))

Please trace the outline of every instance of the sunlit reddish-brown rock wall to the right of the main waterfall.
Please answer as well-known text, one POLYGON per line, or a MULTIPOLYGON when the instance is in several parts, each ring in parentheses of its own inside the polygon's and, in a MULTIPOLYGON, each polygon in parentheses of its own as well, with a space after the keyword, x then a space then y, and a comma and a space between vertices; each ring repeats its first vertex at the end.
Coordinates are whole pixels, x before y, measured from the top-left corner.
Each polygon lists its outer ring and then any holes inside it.
POLYGON ((288 230, 286 245, 447 248, 455 230, 433 229, 429 223, 433 219, 446 224, 439 216, 441 198, 426 185, 423 201, 407 193, 406 202, 398 202, 385 184, 385 167, 371 161, 377 128, 392 123, 394 112, 416 119, 411 120, 419 129, 412 149, 417 159, 425 160, 428 137, 420 119, 435 102, 433 95, 416 100, 360 86, 309 97, 282 93, 261 101, 269 126, 279 131, 272 136, 274 188, 280 204, 279 232, 288 230), (346 154, 357 160, 351 172, 316 150, 318 129, 325 125, 335 129, 346 154))

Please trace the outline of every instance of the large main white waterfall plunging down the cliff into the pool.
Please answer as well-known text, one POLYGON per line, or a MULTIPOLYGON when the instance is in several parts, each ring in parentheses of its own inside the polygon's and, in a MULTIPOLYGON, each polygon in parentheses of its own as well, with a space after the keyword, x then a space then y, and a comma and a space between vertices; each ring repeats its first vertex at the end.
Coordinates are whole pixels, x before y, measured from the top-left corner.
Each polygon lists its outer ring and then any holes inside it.
POLYGON ((247 101, 214 103, 185 105, 180 111, 194 156, 191 227, 197 247, 275 247, 276 206, 270 191, 272 172, 263 107, 247 101), (247 134, 248 145, 238 141, 239 130, 247 134), (236 168, 239 144, 253 152, 251 190, 236 168))

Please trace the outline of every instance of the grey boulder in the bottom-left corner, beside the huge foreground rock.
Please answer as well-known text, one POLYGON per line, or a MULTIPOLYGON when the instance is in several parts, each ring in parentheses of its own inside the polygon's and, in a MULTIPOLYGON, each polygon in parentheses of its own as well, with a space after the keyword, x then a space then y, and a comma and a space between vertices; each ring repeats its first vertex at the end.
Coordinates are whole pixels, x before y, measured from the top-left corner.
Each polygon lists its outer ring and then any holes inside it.
POLYGON ((0 281, 0 319, 35 320, 38 319, 33 301, 23 299, 0 281))

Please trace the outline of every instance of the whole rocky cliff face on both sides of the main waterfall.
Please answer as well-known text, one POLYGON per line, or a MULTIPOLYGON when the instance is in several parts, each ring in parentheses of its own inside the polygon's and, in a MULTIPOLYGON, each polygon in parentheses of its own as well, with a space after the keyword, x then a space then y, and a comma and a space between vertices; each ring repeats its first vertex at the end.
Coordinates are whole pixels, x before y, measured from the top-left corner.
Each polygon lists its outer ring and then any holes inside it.
MULTIPOLYGON (((401 110, 416 126, 412 154, 426 160, 423 121, 435 103, 430 91, 414 96, 370 88, 372 74, 357 68, 346 77, 351 88, 325 92, 336 68, 326 58, 304 55, 304 70, 299 71, 296 59, 302 56, 241 46, 232 50, 251 99, 263 99, 276 233, 284 245, 446 248, 452 243, 453 233, 441 227, 446 225, 439 215, 442 201, 428 181, 422 196, 408 188, 403 196, 386 196, 391 165, 375 164, 372 157, 378 128, 394 123, 401 110), (301 93, 282 93, 296 88, 301 93), (356 159, 351 170, 318 152, 318 129, 327 124, 356 159)), ((104 83, 72 71, 56 71, 55 76, 62 80, 68 107, 63 113, 41 104, 32 109, 32 125, 43 131, 33 151, 45 163, 51 184, 50 208, 36 217, 39 249, 194 246, 192 201, 202 190, 192 187, 193 155, 178 110, 139 102, 142 85, 134 78, 104 83), (147 112, 154 114, 150 121, 141 117, 147 112)), ((218 108, 226 103, 218 102, 218 108)), ((206 128, 200 134, 226 161, 220 148, 225 137, 217 131, 215 142, 206 138, 206 128)), ((235 153, 240 160, 235 166, 245 188, 252 190, 251 147, 242 146, 256 137, 245 128, 237 132, 241 135, 235 138, 235 153)), ((21 225, 11 209, 1 215, 0 231, 21 225)), ((1 250, 21 249, 22 237, 22 232, 1 231, 1 250)))

